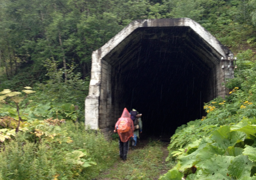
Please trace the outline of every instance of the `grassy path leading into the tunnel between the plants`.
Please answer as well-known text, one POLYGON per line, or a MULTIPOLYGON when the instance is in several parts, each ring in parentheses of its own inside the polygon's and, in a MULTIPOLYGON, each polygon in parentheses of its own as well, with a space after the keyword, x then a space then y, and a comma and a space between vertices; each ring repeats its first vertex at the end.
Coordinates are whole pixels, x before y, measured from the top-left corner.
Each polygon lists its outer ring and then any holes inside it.
POLYGON ((118 159, 95 180, 157 180, 171 169, 165 162, 167 146, 167 142, 140 140, 135 150, 129 148, 127 161, 118 159))

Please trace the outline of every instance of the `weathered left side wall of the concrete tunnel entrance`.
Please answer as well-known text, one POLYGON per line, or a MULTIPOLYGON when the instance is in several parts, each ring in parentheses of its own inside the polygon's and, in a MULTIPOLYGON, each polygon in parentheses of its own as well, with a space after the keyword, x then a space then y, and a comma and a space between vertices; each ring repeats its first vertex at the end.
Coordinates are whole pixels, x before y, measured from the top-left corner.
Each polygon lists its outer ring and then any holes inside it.
POLYGON ((85 125, 91 129, 98 129, 108 135, 113 130, 116 120, 123 112, 123 104, 119 100, 122 96, 122 87, 118 72, 112 70, 104 60, 97 60, 93 55, 89 95, 85 99, 85 125), (91 116, 93 115, 93 118, 91 116))

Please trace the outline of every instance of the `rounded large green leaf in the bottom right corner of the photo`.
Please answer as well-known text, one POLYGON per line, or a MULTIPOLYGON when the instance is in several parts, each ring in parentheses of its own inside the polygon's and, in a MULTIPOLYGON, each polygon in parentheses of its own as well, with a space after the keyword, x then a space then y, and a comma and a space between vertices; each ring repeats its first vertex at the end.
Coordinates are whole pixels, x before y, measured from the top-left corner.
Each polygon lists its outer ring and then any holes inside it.
POLYGON ((248 159, 248 156, 238 155, 231 161, 228 167, 228 174, 236 180, 244 176, 250 176, 252 166, 253 164, 248 159))

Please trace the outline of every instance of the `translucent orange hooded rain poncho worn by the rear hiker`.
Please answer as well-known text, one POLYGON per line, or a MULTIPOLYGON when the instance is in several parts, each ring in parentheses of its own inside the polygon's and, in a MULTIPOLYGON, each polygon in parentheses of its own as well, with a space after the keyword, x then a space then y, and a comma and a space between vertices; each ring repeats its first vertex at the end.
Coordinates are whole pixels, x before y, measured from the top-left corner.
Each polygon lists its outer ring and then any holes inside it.
POLYGON ((116 126, 119 125, 120 121, 125 120, 128 121, 128 123, 130 123, 130 130, 128 132, 125 133, 120 133, 118 132, 118 135, 120 137, 120 140, 125 143, 129 140, 129 138, 131 138, 133 136, 133 131, 134 131, 134 125, 133 125, 133 120, 131 120, 131 115, 129 113, 129 111, 124 108, 122 116, 118 119, 118 121, 115 123, 115 130, 116 130, 116 126))

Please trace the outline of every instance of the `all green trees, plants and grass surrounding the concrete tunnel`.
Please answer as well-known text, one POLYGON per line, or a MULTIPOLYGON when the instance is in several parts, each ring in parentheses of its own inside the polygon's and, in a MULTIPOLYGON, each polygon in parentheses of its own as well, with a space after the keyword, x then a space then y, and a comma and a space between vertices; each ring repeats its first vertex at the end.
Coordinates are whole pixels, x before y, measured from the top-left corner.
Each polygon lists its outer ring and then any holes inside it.
MULTIPOLYGON (((132 20, 181 17, 229 47, 238 69, 229 97, 177 128, 161 179, 256 179, 255 0, 0 0, 0 180, 91 179, 114 165, 117 142, 82 123, 91 52, 132 20)), ((100 178, 158 177, 161 152, 136 150, 100 178)))

